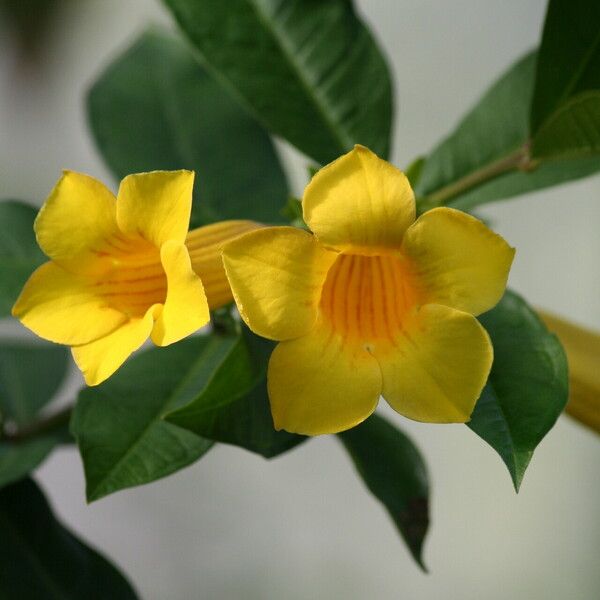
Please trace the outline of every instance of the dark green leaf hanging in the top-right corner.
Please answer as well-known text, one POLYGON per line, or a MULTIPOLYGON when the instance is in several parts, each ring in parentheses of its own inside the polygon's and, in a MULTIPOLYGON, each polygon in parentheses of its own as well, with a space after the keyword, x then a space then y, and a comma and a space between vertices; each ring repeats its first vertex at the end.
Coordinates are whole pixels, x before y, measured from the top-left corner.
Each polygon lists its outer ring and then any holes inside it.
POLYGON ((599 89, 600 3, 550 0, 531 103, 532 133, 570 99, 599 89))

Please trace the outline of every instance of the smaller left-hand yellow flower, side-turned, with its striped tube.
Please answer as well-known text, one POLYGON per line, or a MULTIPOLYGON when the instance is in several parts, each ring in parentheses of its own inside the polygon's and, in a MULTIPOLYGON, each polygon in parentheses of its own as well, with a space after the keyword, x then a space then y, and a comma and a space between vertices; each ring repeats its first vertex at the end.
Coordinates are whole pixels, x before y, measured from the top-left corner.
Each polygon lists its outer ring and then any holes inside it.
POLYGON ((40 337, 71 346, 88 385, 110 377, 148 337, 166 346, 206 325, 207 295, 212 307, 231 301, 219 242, 256 225, 225 222, 188 236, 193 182, 191 171, 130 175, 115 198, 65 171, 40 210, 35 232, 50 262, 12 312, 40 337))

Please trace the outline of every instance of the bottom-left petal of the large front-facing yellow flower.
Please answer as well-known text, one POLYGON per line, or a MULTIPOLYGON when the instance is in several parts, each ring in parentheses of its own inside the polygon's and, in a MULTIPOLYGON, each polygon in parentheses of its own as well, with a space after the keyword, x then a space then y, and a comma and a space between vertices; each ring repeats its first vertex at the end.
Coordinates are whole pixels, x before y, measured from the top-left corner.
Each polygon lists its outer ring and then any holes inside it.
POLYGON ((324 324, 279 343, 267 381, 275 429, 305 435, 358 425, 375 410, 381 393, 377 361, 324 324))

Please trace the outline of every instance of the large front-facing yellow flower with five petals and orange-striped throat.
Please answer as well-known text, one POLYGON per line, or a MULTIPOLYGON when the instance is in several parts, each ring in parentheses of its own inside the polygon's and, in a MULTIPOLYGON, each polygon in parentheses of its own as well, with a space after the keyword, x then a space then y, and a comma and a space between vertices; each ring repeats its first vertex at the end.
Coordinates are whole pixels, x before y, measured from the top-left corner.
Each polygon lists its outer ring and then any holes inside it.
POLYGON ((280 342, 275 427, 343 431, 380 395, 417 421, 467 421, 493 355, 473 315, 501 298, 514 250, 457 210, 415 221, 404 174, 361 146, 313 177, 302 208, 314 235, 266 228, 223 253, 242 318, 280 342))

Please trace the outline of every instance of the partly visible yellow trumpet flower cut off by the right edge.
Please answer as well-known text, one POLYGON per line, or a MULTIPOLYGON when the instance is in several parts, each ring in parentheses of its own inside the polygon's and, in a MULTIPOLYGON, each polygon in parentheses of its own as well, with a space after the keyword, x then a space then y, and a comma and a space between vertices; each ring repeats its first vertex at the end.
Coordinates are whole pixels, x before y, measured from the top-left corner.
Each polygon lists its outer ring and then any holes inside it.
POLYGON ((600 433, 600 335, 545 311, 538 313, 567 353, 569 403, 566 412, 600 433))

